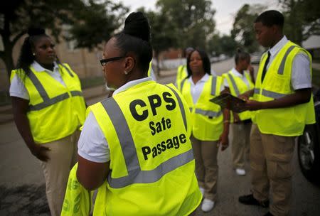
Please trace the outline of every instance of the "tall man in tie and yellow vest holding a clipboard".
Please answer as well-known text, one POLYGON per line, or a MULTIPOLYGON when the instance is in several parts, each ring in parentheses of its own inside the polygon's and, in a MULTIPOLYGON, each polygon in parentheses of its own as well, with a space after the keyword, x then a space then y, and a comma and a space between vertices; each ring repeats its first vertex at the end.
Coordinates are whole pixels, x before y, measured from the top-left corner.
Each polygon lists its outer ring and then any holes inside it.
POLYGON ((245 108, 255 110, 250 136, 252 194, 239 201, 268 207, 267 215, 289 215, 292 195, 294 139, 305 124, 315 122, 311 96, 311 55, 283 35, 284 16, 265 11, 255 19, 262 55, 255 89, 242 95, 245 108), (271 190, 270 190, 271 188, 271 190))

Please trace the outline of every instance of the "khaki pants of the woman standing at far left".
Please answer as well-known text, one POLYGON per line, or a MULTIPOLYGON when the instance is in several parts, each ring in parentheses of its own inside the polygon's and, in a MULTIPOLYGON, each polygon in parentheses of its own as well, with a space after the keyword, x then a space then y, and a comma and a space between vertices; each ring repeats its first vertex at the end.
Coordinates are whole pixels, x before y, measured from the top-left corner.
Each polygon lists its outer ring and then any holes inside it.
POLYGON ((43 175, 46 179, 46 195, 52 216, 59 215, 65 198, 65 189, 71 168, 78 156, 78 139, 80 131, 50 143, 41 144, 50 148, 49 161, 41 161, 43 175))

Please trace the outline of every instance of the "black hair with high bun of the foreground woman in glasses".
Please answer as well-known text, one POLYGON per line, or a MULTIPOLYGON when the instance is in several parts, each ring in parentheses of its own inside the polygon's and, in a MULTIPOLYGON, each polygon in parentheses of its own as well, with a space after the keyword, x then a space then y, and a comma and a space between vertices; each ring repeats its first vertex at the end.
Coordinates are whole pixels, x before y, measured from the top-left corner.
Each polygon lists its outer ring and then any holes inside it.
POLYGON ((124 22, 124 29, 117 33, 114 38, 117 48, 120 50, 120 55, 127 55, 129 52, 137 55, 137 68, 141 69, 146 75, 152 59, 152 47, 150 25, 144 13, 130 13, 124 22))

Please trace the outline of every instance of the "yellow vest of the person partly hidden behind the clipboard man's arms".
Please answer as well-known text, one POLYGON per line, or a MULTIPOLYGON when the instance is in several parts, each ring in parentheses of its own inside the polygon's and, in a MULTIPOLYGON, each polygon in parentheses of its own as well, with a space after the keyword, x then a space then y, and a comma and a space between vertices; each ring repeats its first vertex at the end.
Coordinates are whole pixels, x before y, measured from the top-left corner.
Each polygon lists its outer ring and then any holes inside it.
MULTIPOLYGON (((253 84, 251 80, 250 73, 244 71, 243 75, 247 78, 249 86, 247 86, 247 84, 240 77, 235 76, 231 70, 228 73, 223 74, 223 77, 228 81, 230 94, 235 97, 238 97, 239 95, 252 90, 255 87, 255 84, 253 84)), ((241 121, 251 119, 250 111, 240 112, 238 115, 241 121)))

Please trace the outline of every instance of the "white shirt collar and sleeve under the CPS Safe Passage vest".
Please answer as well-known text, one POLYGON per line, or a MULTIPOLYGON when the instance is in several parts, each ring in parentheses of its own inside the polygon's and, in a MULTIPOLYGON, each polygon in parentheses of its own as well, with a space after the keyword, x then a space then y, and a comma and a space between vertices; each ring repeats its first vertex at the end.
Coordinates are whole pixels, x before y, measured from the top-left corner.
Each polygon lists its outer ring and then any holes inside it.
MULTIPOLYGON (((151 77, 146 77, 127 82, 125 85, 122 85, 122 87, 115 90, 113 95, 124 92, 134 85, 151 80, 151 77)), ((100 126, 95 119, 95 115, 92 112, 90 112, 87 119, 85 119, 85 124, 83 125, 78 141, 78 154, 82 158, 96 163, 110 161, 110 149, 107 139, 105 139, 105 135, 102 133, 100 126)))

